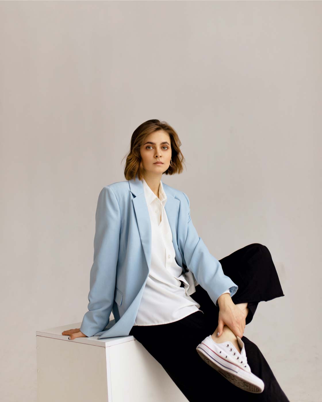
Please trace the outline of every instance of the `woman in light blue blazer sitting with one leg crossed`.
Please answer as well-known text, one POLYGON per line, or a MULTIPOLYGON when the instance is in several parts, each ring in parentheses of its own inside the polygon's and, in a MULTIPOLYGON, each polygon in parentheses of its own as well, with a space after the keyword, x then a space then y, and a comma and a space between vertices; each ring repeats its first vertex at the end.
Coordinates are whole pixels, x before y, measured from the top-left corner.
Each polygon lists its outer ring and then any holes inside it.
POLYGON ((132 134, 126 181, 99 194, 88 311, 81 328, 62 334, 133 335, 189 401, 211 393, 289 401, 243 336, 260 301, 284 296, 270 252, 254 243, 219 261, 210 254, 188 196, 161 181, 163 173, 182 173, 180 146, 176 131, 157 119, 132 134))

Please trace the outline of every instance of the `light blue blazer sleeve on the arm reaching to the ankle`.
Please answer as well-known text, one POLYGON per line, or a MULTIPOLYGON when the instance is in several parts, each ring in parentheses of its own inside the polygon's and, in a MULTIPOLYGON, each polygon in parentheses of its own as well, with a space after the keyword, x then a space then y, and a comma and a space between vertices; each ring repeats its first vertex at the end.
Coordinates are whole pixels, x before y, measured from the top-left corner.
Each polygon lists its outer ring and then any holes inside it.
POLYGON ((218 297, 229 289, 232 297, 238 286, 223 273, 221 263, 209 252, 207 246, 198 236, 190 217, 190 201, 188 196, 183 193, 188 203, 188 224, 187 236, 184 244, 184 260, 186 266, 198 281, 198 283, 208 292, 213 303, 218 306, 218 297))

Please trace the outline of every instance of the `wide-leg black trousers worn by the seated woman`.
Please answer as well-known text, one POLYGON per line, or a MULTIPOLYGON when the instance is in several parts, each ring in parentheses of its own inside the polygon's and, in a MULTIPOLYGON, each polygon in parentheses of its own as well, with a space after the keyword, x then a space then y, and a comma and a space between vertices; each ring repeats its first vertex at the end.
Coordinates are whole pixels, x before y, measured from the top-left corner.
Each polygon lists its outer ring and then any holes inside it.
MULTIPOLYGON (((284 296, 272 256, 266 246, 249 244, 219 262, 225 275, 238 285, 232 297, 233 302, 248 302, 246 325, 252 321, 260 301, 284 296)), ((247 361, 252 373, 264 381, 262 393, 253 394, 236 387, 201 359, 196 347, 215 331, 219 307, 201 285, 196 286, 196 292, 191 297, 200 304, 204 314, 197 311, 169 324, 133 326, 130 331, 130 335, 161 364, 186 398, 190 402, 222 400, 227 397, 228 400, 239 402, 289 402, 261 351, 246 336, 242 340, 247 361)))

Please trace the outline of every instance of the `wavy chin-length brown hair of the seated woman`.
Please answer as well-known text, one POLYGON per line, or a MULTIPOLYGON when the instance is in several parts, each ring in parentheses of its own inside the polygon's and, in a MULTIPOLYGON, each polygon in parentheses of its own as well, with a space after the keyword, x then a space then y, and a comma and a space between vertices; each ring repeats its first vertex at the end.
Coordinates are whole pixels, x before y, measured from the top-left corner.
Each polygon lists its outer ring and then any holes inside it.
MULTIPOLYGON (((154 131, 163 130, 170 136, 171 142, 171 164, 165 174, 175 174, 183 172, 184 156, 180 150, 181 141, 175 129, 166 121, 152 119, 144 121, 134 131, 131 137, 130 152, 126 156, 124 167, 124 176, 126 180, 132 180, 138 176, 139 180, 143 178, 143 165, 140 154, 140 147, 144 144, 147 135, 154 131)), ((125 158, 125 156, 124 156, 125 158)), ((123 158, 123 159, 124 159, 123 158)))

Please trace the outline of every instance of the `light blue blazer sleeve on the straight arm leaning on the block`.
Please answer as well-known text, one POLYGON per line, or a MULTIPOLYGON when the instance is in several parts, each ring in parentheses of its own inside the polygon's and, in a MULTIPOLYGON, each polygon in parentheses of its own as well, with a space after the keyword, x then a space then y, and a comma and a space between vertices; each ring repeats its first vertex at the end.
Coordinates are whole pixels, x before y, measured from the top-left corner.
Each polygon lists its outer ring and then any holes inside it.
POLYGON ((97 334, 109 323, 114 302, 120 230, 120 207, 113 190, 106 186, 99 193, 97 201, 89 304, 80 328, 87 336, 97 334))

